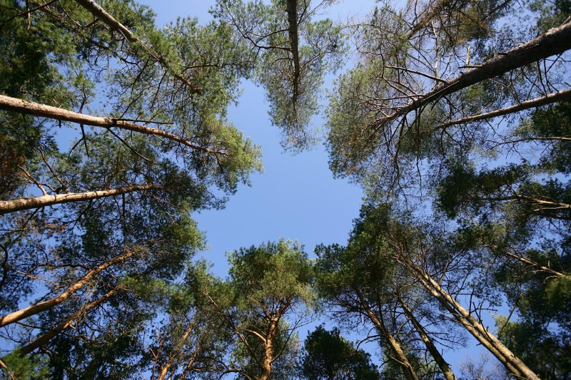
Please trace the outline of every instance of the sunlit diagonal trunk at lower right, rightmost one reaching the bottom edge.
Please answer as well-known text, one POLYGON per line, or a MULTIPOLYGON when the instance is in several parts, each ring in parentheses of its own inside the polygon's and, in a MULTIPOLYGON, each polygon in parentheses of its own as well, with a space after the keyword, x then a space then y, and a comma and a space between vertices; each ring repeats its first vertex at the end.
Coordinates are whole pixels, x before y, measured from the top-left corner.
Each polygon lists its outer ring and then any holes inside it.
MULTIPOLYGON (((402 262, 402 260, 401 260, 402 262)), ((508 349, 499 339, 491 334, 475 317, 468 312, 459 302, 457 302, 440 284, 436 282, 428 273, 415 265, 405 264, 414 274, 415 278, 425 287, 425 289, 438 299, 438 302, 453 315, 454 319, 460 323, 470 334, 477 339, 482 346, 485 346, 511 374, 523 379, 539 380, 537 376, 523 361, 521 361, 510 349, 508 349)))

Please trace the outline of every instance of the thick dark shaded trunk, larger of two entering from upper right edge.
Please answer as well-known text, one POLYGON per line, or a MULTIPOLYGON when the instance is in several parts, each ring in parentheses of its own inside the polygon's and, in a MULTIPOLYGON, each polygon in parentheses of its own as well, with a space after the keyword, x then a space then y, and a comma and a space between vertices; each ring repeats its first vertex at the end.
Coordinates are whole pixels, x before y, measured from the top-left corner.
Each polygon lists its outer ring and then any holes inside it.
POLYGON ((450 95, 451 93, 455 93, 456 91, 460 91, 463 88, 472 86, 475 83, 480 83, 486 79, 500 76, 503 73, 539 61, 540 59, 563 53, 570 48, 571 22, 567 22, 505 53, 497 54, 497 56, 490 58, 480 66, 470 68, 450 81, 440 83, 438 86, 435 86, 432 91, 425 93, 423 96, 418 96, 418 98, 410 102, 407 106, 403 106, 399 108, 398 111, 384 118, 380 118, 372 127, 381 128, 386 123, 390 123, 396 118, 407 115, 412 111, 417 111, 433 101, 438 101, 438 99, 443 96, 450 95))

